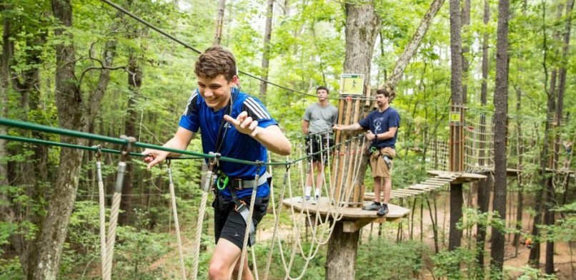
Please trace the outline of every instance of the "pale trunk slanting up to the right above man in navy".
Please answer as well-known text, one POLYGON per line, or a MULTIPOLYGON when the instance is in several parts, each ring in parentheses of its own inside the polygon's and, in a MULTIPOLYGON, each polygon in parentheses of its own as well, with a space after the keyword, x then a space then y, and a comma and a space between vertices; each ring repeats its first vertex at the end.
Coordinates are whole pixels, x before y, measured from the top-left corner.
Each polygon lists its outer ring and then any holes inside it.
POLYGON ((422 21, 420 22, 420 25, 416 29, 416 32, 414 32, 414 35, 412 35, 412 38, 406 45, 406 48, 404 48, 404 51, 396 61, 396 64, 394 64, 392 75, 390 76, 390 79, 387 81, 387 85, 392 85, 392 88, 396 88, 396 85, 400 81, 400 78, 402 78, 402 73, 404 73, 404 69, 406 69, 406 67, 408 66, 410 59, 412 59, 412 56, 414 56, 414 53, 416 53, 418 46, 422 41, 422 38, 424 38, 426 32, 428 31, 428 28, 430 27, 430 24, 432 23, 432 19, 434 19, 436 13, 438 12, 438 10, 440 10, 442 4, 444 4, 444 1, 445 0, 432 1, 432 4, 430 4, 428 11, 426 12, 426 14, 424 14, 424 19, 422 19, 422 21))

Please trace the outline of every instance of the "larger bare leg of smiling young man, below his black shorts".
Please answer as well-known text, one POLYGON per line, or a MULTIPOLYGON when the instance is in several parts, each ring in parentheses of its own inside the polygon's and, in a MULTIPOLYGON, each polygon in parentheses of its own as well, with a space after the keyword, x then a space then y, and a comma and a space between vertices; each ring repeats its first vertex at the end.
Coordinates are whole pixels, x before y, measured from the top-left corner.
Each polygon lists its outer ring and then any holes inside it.
POLYGON ((208 277, 210 280, 229 280, 242 251, 227 239, 218 239, 210 260, 208 277))

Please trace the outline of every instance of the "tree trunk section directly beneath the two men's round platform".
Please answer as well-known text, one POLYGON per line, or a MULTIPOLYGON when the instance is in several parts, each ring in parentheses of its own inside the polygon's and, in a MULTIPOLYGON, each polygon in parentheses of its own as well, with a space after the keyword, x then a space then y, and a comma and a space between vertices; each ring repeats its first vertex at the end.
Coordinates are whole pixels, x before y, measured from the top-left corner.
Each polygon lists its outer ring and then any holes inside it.
POLYGON ((356 279, 356 255, 360 232, 343 232, 344 224, 336 222, 328 242, 326 280, 356 279))

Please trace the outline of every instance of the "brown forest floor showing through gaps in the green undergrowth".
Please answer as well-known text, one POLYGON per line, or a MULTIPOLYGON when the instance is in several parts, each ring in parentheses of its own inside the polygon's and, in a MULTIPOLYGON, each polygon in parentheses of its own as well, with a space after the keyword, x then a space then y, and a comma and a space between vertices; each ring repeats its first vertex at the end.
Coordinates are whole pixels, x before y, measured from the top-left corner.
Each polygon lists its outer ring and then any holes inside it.
MULTIPOLYGON (((447 247, 447 238, 448 238, 448 228, 450 225, 450 205, 447 203, 449 201, 450 195, 449 192, 440 192, 435 196, 436 204, 437 204, 437 219, 438 219, 438 227, 440 229, 439 232, 439 239, 440 239, 440 249, 445 249, 447 247)), ((432 202, 432 201, 431 201, 432 202)), ((467 202, 474 204, 474 199, 469 199, 467 202)), ((513 203, 512 203, 513 204, 513 203)), ((525 202, 525 205, 531 205, 530 201, 525 202)), ((515 211, 512 211, 512 214, 515 215, 515 211)), ((524 212, 523 224, 524 224, 524 231, 530 232, 531 227, 531 217, 527 214, 526 211, 524 212)), ((419 202, 416 205, 416 211, 414 212, 414 227, 412 227, 413 232, 412 236, 414 239, 420 239, 420 211, 419 211, 419 202)), ((429 219, 429 211, 426 207, 424 207, 424 211, 422 212, 422 230, 423 230, 423 240, 424 243, 428 244, 430 248, 434 248, 433 242, 433 233, 432 233, 432 222, 429 219)), ((273 222, 272 214, 268 214, 265 218, 267 222, 262 223, 262 228, 258 230, 257 238, 259 241, 267 241, 272 238, 273 228, 271 223, 273 222)), ((382 234, 385 238, 388 239, 397 239, 398 235, 402 237, 402 239, 409 239, 409 232, 411 231, 411 227, 409 225, 410 216, 404 219, 402 224, 402 229, 399 234, 398 232, 398 224, 396 223, 387 223, 384 224, 384 230, 382 234)), ((194 234, 194 229, 182 229, 182 238, 183 238, 183 250, 184 256, 189 259, 189 256, 192 255, 192 249, 194 240, 187 239, 186 237, 192 237, 194 234)), ((465 230, 463 232, 462 238, 462 246, 467 246, 467 240, 475 240, 475 229, 470 231, 465 230)), ((284 225, 279 227, 278 234, 280 235, 281 239, 290 239, 292 238, 292 228, 284 225)), ((362 229, 362 242, 367 242, 372 235, 372 238, 377 237, 378 234, 378 224, 368 224, 366 227, 362 229)), ((488 233, 490 235, 490 232, 488 233)), ((175 234, 174 234, 175 236, 175 234)), ((211 234, 212 236, 212 234, 211 234)), ((527 266, 528 255, 530 254, 530 250, 527 247, 520 246, 518 247, 517 255, 516 247, 513 247, 512 242, 513 235, 507 235, 507 245, 505 248, 505 269, 508 274, 512 276, 520 276, 522 274, 522 267, 527 266)), ((208 250, 211 251, 213 247, 209 247, 208 250)), ((488 263, 490 260, 490 243, 487 244, 487 260, 488 263)), ((541 247, 541 255, 540 255, 540 266, 543 271, 543 266, 545 264, 545 244, 542 244, 541 247)), ((572 250, 570 250, 569 244, 557 242, 555 244, 555 270, 557 271, 558 279, 566 279, 566 280, 576 280, 576 275, 574 275, 574 271, 576 271, 576 256, 572 256, 572 254, 576 254, 576 246, 572 244, 572 250)), ((262 263, 263 265, 263 263, 262 263)), ((170 277, 179 277, 181 274, 180 266, 179 266, 179 254, 177 249, 177 244, 174 242, 174 250, 162 256, 162 258, 158 259, 154 262, 148 269, 154 270, 162 268, 163 271, 167 271, 167 274, 164 276, 167 278, 170 277), (169 272, 168 272, 169 271, 169 272)), ((187 273, 189 274, 190 266, 187 265, 187 273)), ((425 276, 424 279, 432 279, 432 276, 425 276)))

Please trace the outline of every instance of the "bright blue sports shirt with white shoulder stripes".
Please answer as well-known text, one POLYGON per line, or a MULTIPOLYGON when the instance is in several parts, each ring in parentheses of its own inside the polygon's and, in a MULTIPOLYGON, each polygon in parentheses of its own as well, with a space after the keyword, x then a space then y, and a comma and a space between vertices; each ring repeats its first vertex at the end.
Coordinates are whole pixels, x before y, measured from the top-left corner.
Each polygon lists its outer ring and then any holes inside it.
MULTIPOLYGON (((261 128, 267 128, 269 125, 278 125, 260 100, 239 91, 237 88, 232 90, 232 105, 225 106, 217 111, 214 111, 206 105, 206 101, 202 98, 198 89, 194 90, 188 100, 186 110, 184 110, 184 114, 180 118, 179 125, 193 133, 201 130, 202 150, 207 154, 209 152, 216 152, 217 150, 216 142, 224 115, 237 118, 242 111, 246 111, 249 117, 257 120, 258 126, 261 128), (232 112, 230 112, 231 109, 232 112)), ((219 153, 223 157, 253 162, 258 160, 262 162, 267 161, 266 147, 249 135, 240 133, 234 128, 234 125, 225 122, 220 133, 222 134, 221 137, 223 140, 219 153)), ((219 169, 229 177, 241 178, 242 180, 254 180, 257 167, 255 165, 244 165, 220 160, 219 169)), ((266 168, 260 168, 259 175, 263 175, 264 172, 266 172, 266 168)), ((267 197, 269 192, 269 185, 264 183, 258 187, 257 197, 267 197)), ((252 195, 252 189, 237 190, 236 193, 238 197, 249 197, 252 195)), ((223 197, 232 197, 228 188, 220 190, 220 194, 223 197)))

